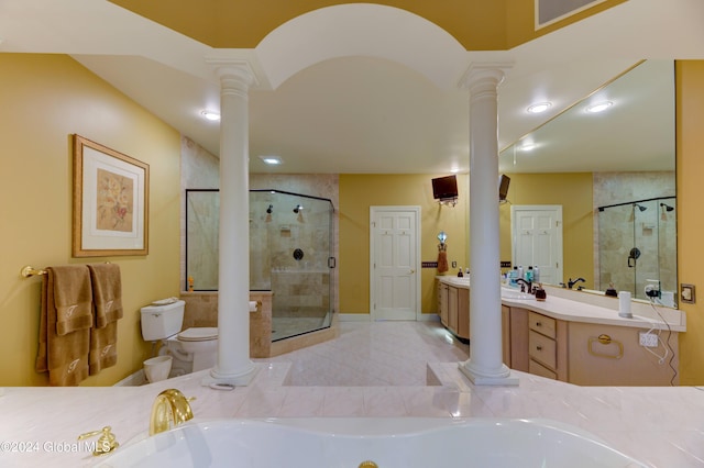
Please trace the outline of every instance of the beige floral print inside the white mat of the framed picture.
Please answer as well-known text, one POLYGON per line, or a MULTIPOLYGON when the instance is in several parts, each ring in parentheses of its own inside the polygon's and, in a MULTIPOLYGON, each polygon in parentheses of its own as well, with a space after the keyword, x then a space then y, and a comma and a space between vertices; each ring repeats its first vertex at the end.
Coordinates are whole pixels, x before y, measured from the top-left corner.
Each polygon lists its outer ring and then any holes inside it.
POLYGON ((134 181, 105 169, 98 169, 96 190, 96 227, 105 231, 132 232, 134 181))

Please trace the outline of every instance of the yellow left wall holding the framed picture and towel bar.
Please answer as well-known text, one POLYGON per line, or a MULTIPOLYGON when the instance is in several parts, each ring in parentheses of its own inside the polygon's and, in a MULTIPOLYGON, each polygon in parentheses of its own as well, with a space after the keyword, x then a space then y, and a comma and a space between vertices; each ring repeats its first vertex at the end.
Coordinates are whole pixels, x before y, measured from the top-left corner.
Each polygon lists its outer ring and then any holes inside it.
POLYGON ((41 279, 24 265, 109 260, 122 271, 118 364, 81 385, 112 385, 150 346, 140 307, 178 294, 179 134, 65 55, 0 54, 0 386, 44 386, 34 371, 41 279), (72 258, 72 144, 77 133, 150 165, 150 252, 72 258))

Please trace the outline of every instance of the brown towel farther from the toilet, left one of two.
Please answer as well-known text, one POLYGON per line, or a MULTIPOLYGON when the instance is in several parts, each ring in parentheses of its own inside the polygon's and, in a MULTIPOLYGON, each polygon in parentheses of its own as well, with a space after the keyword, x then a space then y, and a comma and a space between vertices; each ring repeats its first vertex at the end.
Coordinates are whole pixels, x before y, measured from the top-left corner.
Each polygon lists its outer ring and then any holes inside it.
POLYGON ((35 368, 38 372, 48 371, 51 386, 77 386, 88 377, 92 323, 90 298, 90 276, 84 265, 46 269, 42 279, 40 347, 35 368), (89 319, 86 319, 86 303, 89 319))

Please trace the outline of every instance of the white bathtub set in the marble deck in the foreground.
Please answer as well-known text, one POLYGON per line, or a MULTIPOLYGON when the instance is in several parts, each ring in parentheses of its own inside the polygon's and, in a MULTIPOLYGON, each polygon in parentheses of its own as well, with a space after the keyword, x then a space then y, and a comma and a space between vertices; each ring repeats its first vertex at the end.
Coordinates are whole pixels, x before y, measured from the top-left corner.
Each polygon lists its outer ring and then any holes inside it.
POLYGON ((119 447, 97 466, 646 467, 554 421, 432 417, 194 420, 119 447))

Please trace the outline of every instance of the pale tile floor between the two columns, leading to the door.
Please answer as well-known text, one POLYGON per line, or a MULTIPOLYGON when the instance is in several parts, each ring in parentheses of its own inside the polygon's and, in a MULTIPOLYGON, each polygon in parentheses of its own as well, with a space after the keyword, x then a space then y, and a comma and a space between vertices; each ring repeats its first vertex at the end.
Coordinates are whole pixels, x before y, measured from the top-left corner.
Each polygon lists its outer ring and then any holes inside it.
POLYGON ((341 322, 340 336, 282 356, 296 387, 425 386, 429 363, 459 363, 469 346, 439 322, 341 322))

